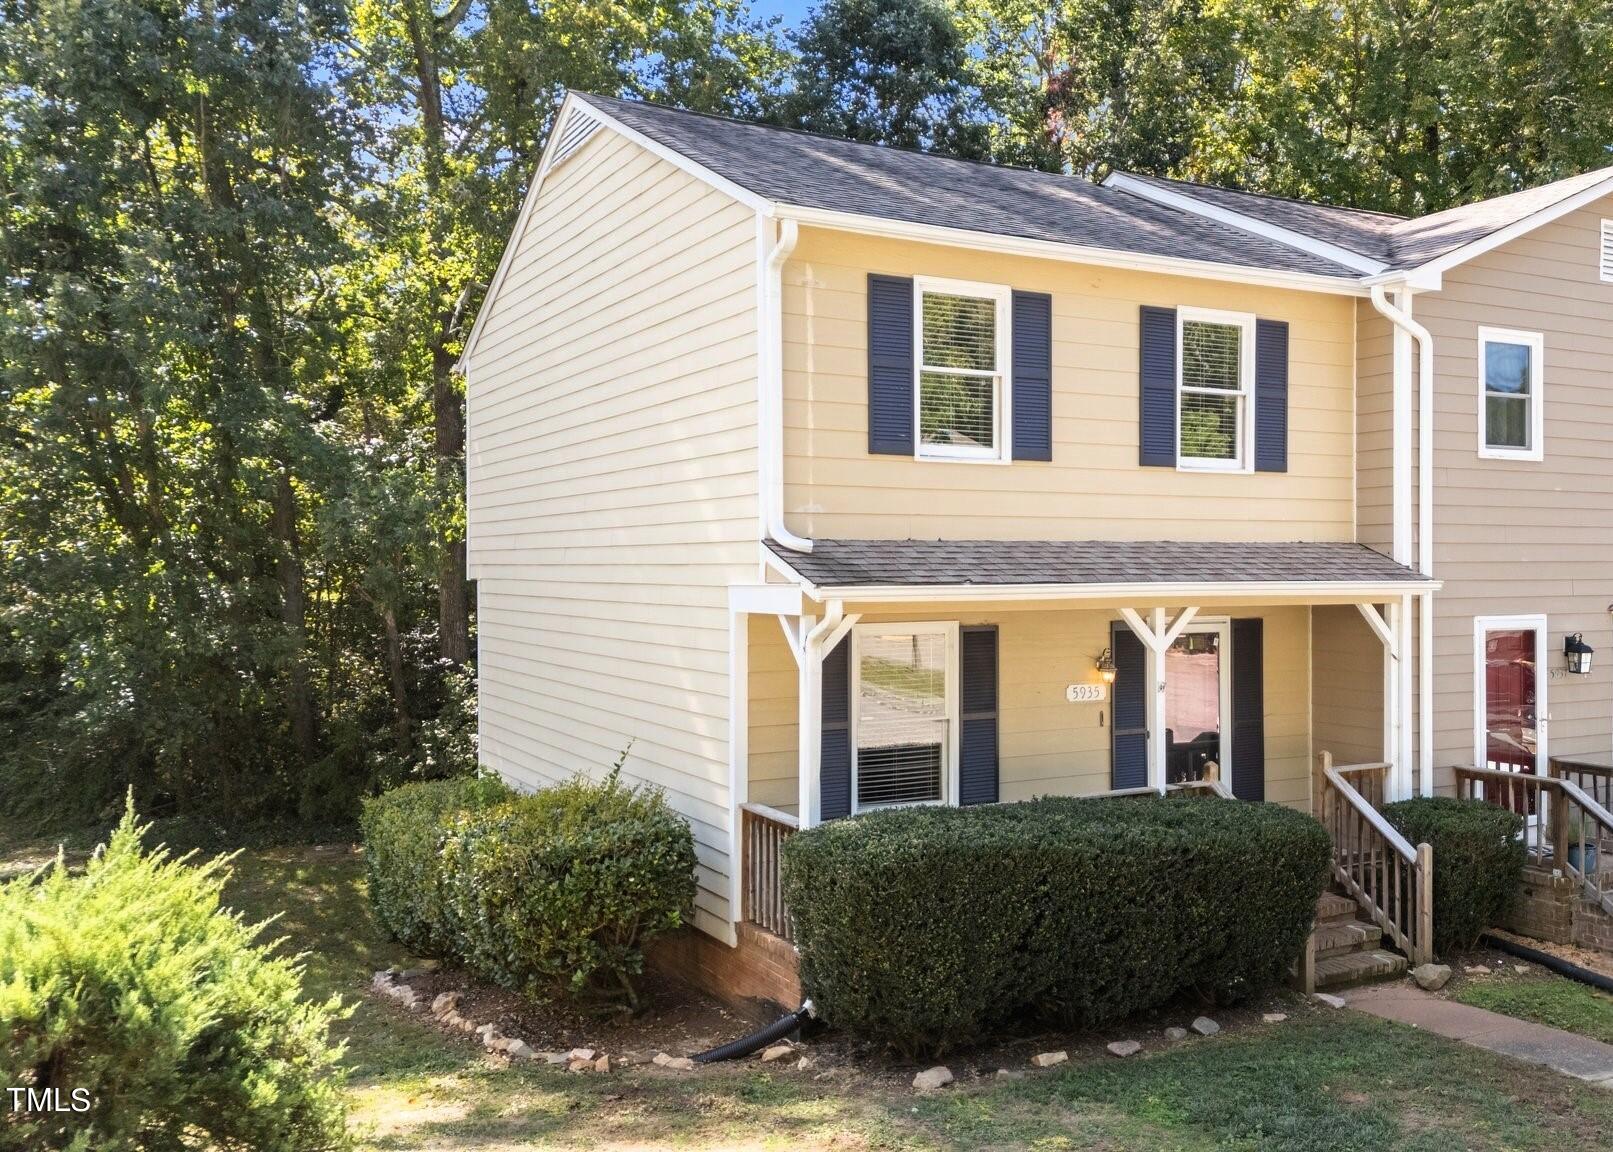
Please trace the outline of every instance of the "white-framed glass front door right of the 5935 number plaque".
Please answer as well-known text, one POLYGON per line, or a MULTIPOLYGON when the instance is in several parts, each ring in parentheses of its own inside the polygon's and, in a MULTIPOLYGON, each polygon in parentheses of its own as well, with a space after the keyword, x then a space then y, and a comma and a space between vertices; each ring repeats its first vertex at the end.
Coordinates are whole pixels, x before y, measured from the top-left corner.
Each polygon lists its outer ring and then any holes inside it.
POLYGON ((1165 653, 1165 779, 1231 786, 1231 623, 1195 623, 1165 653))

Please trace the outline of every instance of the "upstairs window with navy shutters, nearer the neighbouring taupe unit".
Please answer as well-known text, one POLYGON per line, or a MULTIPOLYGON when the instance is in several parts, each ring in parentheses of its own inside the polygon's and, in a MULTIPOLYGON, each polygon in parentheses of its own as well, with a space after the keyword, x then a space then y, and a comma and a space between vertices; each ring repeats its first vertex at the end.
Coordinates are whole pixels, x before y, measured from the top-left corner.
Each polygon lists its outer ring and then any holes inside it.
POLYGON ((1255 439, 1255 318, 1177 308, 1176 352, 1177 466, 1247 471, 1255 439))

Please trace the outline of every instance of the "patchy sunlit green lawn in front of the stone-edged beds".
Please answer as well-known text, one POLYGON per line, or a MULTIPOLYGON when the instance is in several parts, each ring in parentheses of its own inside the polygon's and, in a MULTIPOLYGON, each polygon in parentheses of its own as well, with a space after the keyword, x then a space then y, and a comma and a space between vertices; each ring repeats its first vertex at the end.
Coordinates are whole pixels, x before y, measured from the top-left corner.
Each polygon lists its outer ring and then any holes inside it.
MULTIPOLYGON (((358 997, 403 960, 369 918, 361 860, 273 849, 237 863, 232 902, 279 913, 311 991, 358 997)), ((1345 1012, 1131 1060, 916 1097, 892 1068, 824 1079, 750 1062, 673 1075, 497 1068, 418 1016, 361 1000, 342 1025, 369 1149, 1560 1149, 1613 1147, 1613 1092, 1345 1012)), ((955 1071, 969 1062, 953 1062, 955 1071)))

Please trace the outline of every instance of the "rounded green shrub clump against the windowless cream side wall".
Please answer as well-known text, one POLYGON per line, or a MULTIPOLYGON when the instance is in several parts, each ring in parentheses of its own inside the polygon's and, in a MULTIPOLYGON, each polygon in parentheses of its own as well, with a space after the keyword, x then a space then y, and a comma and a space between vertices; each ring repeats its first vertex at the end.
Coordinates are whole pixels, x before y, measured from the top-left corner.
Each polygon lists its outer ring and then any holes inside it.
POLYGON ((532 997, 595 991, 637 1007, 644 944, 694 908, 687 821, 618 770, 529 795, 410 784, 366 805, 365 849, 398 939, 532 997))

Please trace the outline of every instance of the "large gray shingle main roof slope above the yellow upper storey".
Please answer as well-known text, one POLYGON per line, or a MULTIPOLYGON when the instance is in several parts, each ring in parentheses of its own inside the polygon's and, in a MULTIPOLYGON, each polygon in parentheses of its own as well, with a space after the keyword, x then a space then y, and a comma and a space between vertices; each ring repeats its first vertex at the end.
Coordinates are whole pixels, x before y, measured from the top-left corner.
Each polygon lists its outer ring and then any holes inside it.
POLYGON ((1355 279, 1331 260, 1076 176, 950 160, 640 100, 577 94, 779 203, 1055 244, 1355 279))

